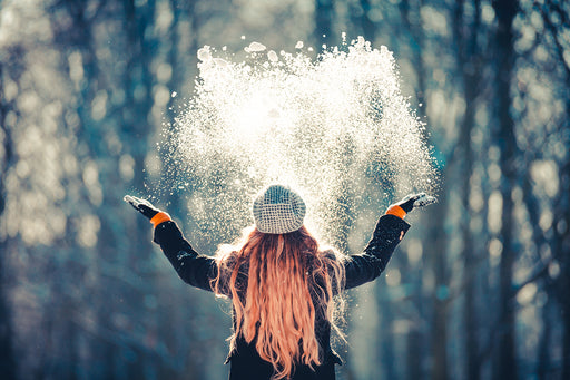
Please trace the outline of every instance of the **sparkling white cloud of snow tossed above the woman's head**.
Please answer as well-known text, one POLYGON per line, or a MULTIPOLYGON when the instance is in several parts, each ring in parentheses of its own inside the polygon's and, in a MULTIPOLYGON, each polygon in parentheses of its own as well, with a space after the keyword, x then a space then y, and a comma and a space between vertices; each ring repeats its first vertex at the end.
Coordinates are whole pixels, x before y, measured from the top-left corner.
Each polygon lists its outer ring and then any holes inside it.
POLYGON ((235 238, 272 183, 296 188, 306 224, 333 244, 399 197, 435 189, 425 126, 401 94, 392 52, 362 37, 316 58, 302 42, 295 49, 252 42, 243 61, 198 50, 195 94, 165 127, 160 152, 202 233, 235 238))

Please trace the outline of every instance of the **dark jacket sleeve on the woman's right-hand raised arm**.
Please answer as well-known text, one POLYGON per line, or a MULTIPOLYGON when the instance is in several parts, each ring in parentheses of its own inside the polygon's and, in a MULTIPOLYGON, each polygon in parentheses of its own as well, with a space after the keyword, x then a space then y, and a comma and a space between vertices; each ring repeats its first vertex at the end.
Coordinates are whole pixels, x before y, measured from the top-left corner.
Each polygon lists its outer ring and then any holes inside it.
POLYGON ((402 218, 394 215, 383 215, 379 220, 372 240, 364 252, 346 257, 344 263, 345 289, 360 286, 380 276, 401 237, 409 228, 410 224, 402 218))

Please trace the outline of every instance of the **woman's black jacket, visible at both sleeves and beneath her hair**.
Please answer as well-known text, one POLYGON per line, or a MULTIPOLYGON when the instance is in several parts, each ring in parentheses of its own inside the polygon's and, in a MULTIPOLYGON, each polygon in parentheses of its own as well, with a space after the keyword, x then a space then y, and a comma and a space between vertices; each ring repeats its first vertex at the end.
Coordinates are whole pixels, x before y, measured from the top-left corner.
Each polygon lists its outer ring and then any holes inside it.
MULTIPOLYGON (((394 249, 409 228, 410 225, 397 216, 382 216, 364 252, 350 255, 345 261, 345 289, 355 288, 376 279, 386 267, 394 249)), ((217 275, 214 259, 197 253, 184 238, 176 223, 159 224, 155 228, 154 241, 160 245, 180 279, 193 286, 212 291, 210 280, 217 275)), ((340 364, 341 359, 331 349, 331 324, 317 315, 315 332, 317 341, 325 352, 324 361, 315 371, 307 366, 297 366, 294 380, 335 379, 334 364, 340 364)), ((257 354, 255 341, 248 344, 244 339, 238 338, 236 347, 229 353, 226 362, 232 363, 229 380, 268 380, 273 374, 272 364, 257 354)))

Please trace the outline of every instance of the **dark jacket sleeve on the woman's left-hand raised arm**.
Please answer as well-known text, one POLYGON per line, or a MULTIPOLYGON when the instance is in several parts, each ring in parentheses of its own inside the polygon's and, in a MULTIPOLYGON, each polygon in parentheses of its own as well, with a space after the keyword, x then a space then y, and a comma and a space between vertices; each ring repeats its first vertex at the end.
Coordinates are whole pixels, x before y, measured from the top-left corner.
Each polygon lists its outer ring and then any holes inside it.
POLYGON ((212 291, 210 280, 217 275, 216 261, 194 251, 176 223, 169 221, 157 225, 154 242, 160 245, 180 279, 193 286, 212 291))

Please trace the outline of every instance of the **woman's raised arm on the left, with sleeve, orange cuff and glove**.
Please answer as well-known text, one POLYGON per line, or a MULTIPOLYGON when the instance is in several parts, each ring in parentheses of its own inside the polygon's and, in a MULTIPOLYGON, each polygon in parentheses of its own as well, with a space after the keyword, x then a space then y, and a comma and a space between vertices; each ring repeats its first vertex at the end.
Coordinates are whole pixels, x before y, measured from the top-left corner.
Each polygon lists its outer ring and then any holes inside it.
POLYGON ((180 279, 193 286, 212 291, 210 280, 217 274, 215 260, 197 253, 167 213, 141 198, 127 195, 125 201, 153 223, 154 242, 160 245, 180 279))

